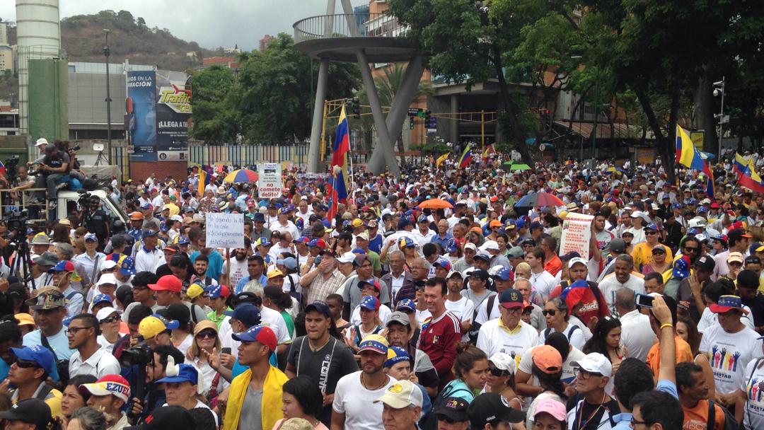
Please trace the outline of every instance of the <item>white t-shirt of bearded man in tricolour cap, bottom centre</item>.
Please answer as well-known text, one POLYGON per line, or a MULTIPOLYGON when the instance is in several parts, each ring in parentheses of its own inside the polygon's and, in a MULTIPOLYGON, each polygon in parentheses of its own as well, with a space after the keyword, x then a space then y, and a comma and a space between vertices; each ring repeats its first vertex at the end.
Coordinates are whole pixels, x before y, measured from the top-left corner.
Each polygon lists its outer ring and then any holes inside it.
POLYGON ((345 428, 353 430, 380 430, 382 428, 382 403, 374 403, 384 394, 388 386, 396 382, 395 378, 388 377, 387 383, 379 390, 367 390, 361 384, 361 373, 350 373, 337 381, 335 398, 332 409, 335 412, 345 414, 345 428))

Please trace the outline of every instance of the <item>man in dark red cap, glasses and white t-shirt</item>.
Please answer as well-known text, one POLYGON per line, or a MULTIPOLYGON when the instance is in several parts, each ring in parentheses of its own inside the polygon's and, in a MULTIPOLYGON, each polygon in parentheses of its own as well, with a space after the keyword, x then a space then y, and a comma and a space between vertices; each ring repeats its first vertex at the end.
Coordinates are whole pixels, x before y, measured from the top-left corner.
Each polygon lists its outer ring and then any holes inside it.
POLYGON ((523 295, 516 289, 505 289, 499 297, 500 318, 481 326, 476 346, 490 357, 497 352, 516 357, 539 343, 539 332, 520 318, 523 315, 523 295))

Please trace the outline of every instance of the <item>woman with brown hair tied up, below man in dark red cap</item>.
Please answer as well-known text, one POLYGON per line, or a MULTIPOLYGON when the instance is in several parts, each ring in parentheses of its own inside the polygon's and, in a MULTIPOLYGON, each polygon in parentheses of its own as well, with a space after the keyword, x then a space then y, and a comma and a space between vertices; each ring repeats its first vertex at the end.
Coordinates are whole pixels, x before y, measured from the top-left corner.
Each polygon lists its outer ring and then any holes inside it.
POLYGON ((481 349, 465 342, 456 344, 456 354, 452 367, 456 378, 445 384, 439 396, 460 397, 471 403, 488 379, 488 357, 481 349))

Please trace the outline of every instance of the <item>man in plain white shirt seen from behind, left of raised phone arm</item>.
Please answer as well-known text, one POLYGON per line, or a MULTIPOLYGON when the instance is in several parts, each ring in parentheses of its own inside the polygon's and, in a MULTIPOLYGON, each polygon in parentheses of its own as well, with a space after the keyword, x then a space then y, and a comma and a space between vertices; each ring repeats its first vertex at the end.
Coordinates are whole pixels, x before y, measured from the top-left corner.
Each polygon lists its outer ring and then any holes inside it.
POLYGON ((616 292, 616 310, 620 315, 621 342, 629 357, 646 361, 647 353, 656 343, 656 334, 650 327, 650 317, 640 313, 634 302, 634 292, 622 288, 616 292))

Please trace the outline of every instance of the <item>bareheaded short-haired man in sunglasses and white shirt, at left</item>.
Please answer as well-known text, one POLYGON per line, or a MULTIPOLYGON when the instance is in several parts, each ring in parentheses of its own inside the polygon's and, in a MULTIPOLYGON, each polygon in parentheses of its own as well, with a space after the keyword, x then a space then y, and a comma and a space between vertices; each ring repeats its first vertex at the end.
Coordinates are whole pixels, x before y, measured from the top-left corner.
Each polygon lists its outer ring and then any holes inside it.
MULTIPOLYGON (((114 308, 104 308, 101 311, 108 309, 116 314, 114 308)), ((92 375, 100 378, 121 371, 117 359, 98 343, 100 334, 99 319, 95 315, 79 314, 72 318, 66 328, 66 338, 69 339, 69 348, 77 351, 69 359, 70 377, 92 375)))

